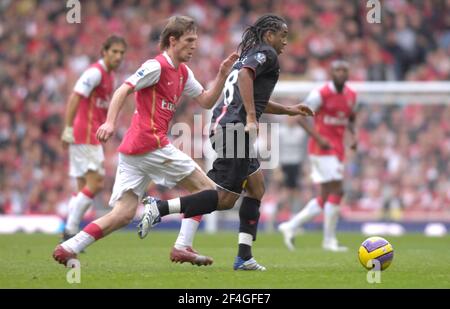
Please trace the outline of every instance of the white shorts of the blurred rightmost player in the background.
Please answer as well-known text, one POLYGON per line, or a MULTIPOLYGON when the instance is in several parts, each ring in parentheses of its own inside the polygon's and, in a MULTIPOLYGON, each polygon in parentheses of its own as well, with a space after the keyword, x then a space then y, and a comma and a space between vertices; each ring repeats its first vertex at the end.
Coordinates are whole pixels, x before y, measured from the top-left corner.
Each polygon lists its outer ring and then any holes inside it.
POLYGON ((311 179, 314 183, 339 181, 344 178, 344 164, 333 155, 309 155, 311 179))

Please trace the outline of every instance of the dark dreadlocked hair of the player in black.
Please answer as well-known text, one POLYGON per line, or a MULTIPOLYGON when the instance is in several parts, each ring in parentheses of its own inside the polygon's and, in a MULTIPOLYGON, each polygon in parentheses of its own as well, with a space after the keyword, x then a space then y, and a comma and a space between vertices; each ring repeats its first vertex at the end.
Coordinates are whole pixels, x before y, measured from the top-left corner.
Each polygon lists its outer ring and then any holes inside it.
POLYGON ((242 41, 238 46, 238 50, 241 51, 239 59, 244 58, 253 46, 263 43, 263 37, 267 31, 280 31, 283 24, 286 24, 286 20, 273 14, 263 15, 258 18, 253 26, 247 27, 242 34, 242 41))

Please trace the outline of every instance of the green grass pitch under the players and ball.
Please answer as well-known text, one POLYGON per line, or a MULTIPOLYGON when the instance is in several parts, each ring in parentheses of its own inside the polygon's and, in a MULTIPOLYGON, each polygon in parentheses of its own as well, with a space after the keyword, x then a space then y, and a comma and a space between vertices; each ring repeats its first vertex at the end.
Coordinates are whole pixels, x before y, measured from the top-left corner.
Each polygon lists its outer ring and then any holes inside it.
POLYGON ((174 264, 169 251, 176 232, 153 231, 144 239, 116 232, 80 255, 81 283, 66 281, 68 269, 53 261, 56 235, 1 235, 0 288, 450 288, 450 239, 419 234, 387 237, 394 247, 392 265, 381 283, 369 284, 357 251, 366 238, 339 234, 346 253, 320 248, 319 232, 299 235, 289 252, 280 234, 258 235, 253 254, 266 272, 236 272, 236 233, 199 233, 195 248, 214 257, 197 267, 174 264))

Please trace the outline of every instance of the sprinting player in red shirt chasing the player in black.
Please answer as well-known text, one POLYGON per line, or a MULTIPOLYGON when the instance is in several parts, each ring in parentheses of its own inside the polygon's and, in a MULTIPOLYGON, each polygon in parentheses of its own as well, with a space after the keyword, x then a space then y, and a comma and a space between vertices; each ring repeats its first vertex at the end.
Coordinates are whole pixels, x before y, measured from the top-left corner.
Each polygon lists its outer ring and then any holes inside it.
MULTIPOLYGON (((167 137, 179 98, 186 95, 200 106, 211 108, 238 58, 233 53, 225 59, 211 88, 204 90, 185 64, 192 58, 196 46, 194 20, 185 16, 171 17, 160 38, 163 53, 142 64, 114 93, 106 122, 97 130, 99 141, 106 142, 114 134, 117 116, 126 97, 133 92, 136 111, 119 146, 119 164, 109 203, 113 209, 57 246, 53 252, 56 261, 67 264, 96 240, 129 224, 150 181, 166 187, 180 185, 190 192, 215 189, 215 184, 201 168, 167 137)), ((197 265, 212 263, 211 258, 197 254, 189 246, 174 249, 177 250, 173 258, 179 261, 197 265)))

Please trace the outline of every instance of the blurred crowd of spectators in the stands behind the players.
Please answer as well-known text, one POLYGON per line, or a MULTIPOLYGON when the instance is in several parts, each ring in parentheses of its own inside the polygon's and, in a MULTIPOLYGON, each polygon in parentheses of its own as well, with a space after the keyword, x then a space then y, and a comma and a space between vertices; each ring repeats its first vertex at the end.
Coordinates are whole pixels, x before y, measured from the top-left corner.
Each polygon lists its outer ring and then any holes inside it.
MULTIPOLYGON (((64 215, 75 187, 60 135, 75 81, 115 33, 128 42, 116 74, 118 84, 123 82, 159 53, 160 31, 174 14, 199 24, 198 48, 188 65, 205 87, 222 59, 236 50, 245 27, 267 12, 283 16, 290 29, 280 56, 282 80, 325 81, 336 58, 349 60, 351 80, 450 79, 450 14, 445 14, 450 0, 381 1, 380 24, 367 23, 366 3, 359 0, 80 1, 80 24, 66 21, 65 2, 0 1, 0 213, 64 215)), ((109 199, 116 148, 133 110, 130 100, 115 138, 105 145, 107 185, 99 204, 109 199)), ((174 122, 192 124, 192 115, 202 112, 182 102, 174 122)), ((283 126, 286 134, 298 130, 295 121, 283 126)), ((346 168, 348 209, 450 212, 449 106, 362 104, 357 128, 359 149, 349 153, 346 168)), ((297 189, 286 188, 281 167, 266 172, 265 202, 286 215, 317 193, 304 138, 298 140, 301 155, 289 163, 298 166, 297 189)), ((180 193, 151 190, 165 197, 180 193)))

